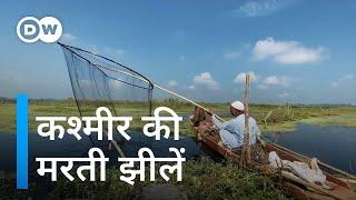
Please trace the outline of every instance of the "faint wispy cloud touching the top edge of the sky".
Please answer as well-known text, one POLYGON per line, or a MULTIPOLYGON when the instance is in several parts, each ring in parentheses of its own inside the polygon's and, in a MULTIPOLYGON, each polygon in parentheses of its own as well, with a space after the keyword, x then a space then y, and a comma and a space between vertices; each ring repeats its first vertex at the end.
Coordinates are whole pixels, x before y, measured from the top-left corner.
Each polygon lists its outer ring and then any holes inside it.
POLYGON ((278 0, 265 0, 265 1, 250 1, 237 10, 235 13, 241 14, 244 17, 259 17, 259 16, 268 16, 273 12, 279 10, 285 3, 278 0))

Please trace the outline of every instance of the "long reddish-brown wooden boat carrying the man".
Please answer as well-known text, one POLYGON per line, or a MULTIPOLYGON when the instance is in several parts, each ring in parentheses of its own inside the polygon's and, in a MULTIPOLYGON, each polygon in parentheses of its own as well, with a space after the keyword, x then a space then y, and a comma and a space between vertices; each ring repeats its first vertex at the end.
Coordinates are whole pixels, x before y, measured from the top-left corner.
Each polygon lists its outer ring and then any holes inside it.
MULTIPOLYGON (((205 111, 200 108, 196 108, 195 116, 191 118, 191 126, 194 132, 197 134, 199 141, 205 143, 210 149, 214 149, 219 154, 227 159, 231 159, 236 162, 240 161, 241 149, 229 150, 225 148, 222 144, 218 143, 217 139, 217 129, 212 128, 212 121, 207 119, 204 113, 205 111)), ((265 140, 264 140, 265 141, 265 140)), ((260 149, 265 151, 265 157, 267 158, 268 152, 275 151, 283 160, 289 161, 300 161, 305 163, 309 163, 310 159, 298 154, 291 150, 277 146, 270 142, 263 142, 261 144, 256 144, 256 147, 251 147, 251 149, 260 149)), ((296 199, 355 199, 356 193, 354 189, 350 187, 347 180, 355 181, 356 178, 347 172, 333 168, 323 162, 318 162, 323 173, 326 176, 326 180, 329 186, 328 189, 323 188, 320 184, 308 182, 306 180, 300 179, 297 176, 291 174, 290 172, 286 172, 284 170, 275 170, 267 162, 263 161, 264 157, 260 154, 260 151, 251 150, 251 162, 247 166, 247 169, 259 171, 264 174, 267 174, 271 179, 276 180, 283 188, 287 190, 289 194, 295 197, 296 199), (258 153, 259 152, 259 153, 258 153), (258 161, 259 160, 259 161, 258 161), (322 164, 320 164, 322 163, 322 164), (342 173, 346 179, 340 179, 333 176, 330 172, 342 173), (346 180, 346 181, 345 181, 346 180)))

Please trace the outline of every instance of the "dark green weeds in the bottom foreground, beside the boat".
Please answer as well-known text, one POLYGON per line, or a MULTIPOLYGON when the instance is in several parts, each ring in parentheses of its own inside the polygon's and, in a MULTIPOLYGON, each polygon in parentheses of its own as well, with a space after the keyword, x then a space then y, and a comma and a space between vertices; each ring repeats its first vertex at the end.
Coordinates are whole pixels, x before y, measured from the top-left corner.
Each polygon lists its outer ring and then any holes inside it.
MULTIPOLYGON (((215 163, 202 158, 182 167, 182 181, 177 182, 172 176, 169 183, 178 187, 188 199, 286 199, 284 191, 268 178, 246 172, 231 161, 215 163)), ((135 199, 144 187, 166 183, 157 174, 156 182, 136 180, 130 186, 120 181, 120 176, 119 170, 109 169, 105 182, 70 182, 62 178, 47 199, 135 199)))

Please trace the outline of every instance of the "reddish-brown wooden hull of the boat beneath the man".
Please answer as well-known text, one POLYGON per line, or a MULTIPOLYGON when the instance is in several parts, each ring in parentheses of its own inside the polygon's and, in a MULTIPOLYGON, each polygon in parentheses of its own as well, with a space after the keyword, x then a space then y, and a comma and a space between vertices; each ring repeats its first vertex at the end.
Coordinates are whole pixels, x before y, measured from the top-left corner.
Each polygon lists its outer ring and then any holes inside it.
MULTIPOLYGON (((199 111, 201 112, 201 111, 199 111)), ((199 113, 196 110, 196 114, 199 113)), ((218 132, 214 129, 209 129, 208 133, 207 127, 209 127, 211 121, 205 122, 204 118, 200 118, 200 121, 194 120, 195 118, 191 118, 191 126, 192 131, 197 134, 197 140, 205 143, 208 148, 215 150, 220 156, 222 156, 226 159, 231 159, 233 161, 240 162, 240 150, 229 150, 225 148, 222 144, 220 144, 217 140, 217 137, 214 134, 218 134, 218 132), (202 123, 201 123, 202 121, 202 123), (202 126, 201 126, 202 124, 202 126), (201 127, 204 130, 201 130, 201 127), (214 131, 216 131, 214 133, 214 131)), ((269 143, 267 141, 264 142, 264 149, 265 151, 271 152, 275 151, 280 159, 283 160, 289 160, 289 161, 300 161, 306 162, 308 161, 305 159, 306 157, 299 157, 298 153, 294 153, 290 151, 286 151, 284 148, 280 148, 277 144, 269 143)), ((354 192, 353 188, 345 181, 324 172, 326 176, 326 180, 333 184, 332 190, 324 190, 322 187, 309 183, 303 179, 297 179, 295 177, 290 177, 290 174, 280 174, 280 171, 276 171, 273 169, 268 163, 250 163, 247 166, 248 170, 259 171, 264 174, 267 174, 273 180, 276 180, 278 184, 281 184, 284 189, 287 190, 287 192, 295 197, 296 199, 355 199, 356 200, 356 193, 354 192), (317 190, 316 190, 317 189, 317 190)))

